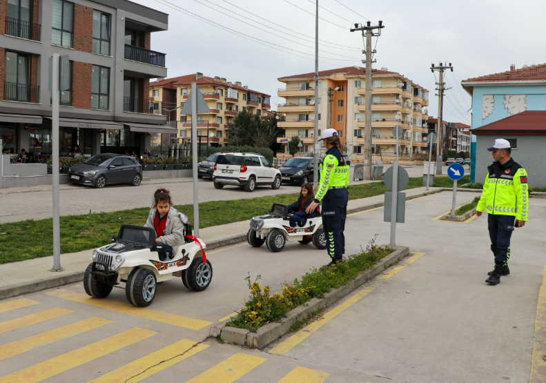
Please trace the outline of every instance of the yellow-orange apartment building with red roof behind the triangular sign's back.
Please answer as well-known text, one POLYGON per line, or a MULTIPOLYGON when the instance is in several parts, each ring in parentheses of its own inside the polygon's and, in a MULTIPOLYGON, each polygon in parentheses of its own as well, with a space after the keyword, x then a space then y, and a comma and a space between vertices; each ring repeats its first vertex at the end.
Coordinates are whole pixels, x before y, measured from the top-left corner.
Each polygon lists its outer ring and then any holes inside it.
POLYGON ((173 121, 172 118, 175 117, 178 137, 182 139, 191 137, 191 115, 182 115, 181 112, 193 82, 197 84, 211 109, 210 113, 197 115, 197 136, 208 137, 211 146, 226 146, 229 143, 229 124, 241 110, 263 117, 264 112, 271 108, 270 95, 248 89, 240 81, 227 81, 224 77, 206 77, 197 72, 157 80, 150 83, 150 99, 176 103, 170 110, 177 110, 177 113, 169 118, 173 121), (210 137, 211 133, 213 137, 210 137))

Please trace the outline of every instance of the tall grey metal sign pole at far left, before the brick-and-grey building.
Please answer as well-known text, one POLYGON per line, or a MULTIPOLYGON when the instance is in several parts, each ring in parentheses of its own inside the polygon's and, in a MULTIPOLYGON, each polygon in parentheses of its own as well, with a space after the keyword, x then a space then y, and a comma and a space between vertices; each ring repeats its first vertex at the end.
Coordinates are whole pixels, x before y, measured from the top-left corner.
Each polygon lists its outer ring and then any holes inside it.
POLYGON ((59 218, 59 53, 53 54, 51 102, 51 166, 53 170, 53 268, 51 271, 63 271, 61 266, 61 222, 59 218))

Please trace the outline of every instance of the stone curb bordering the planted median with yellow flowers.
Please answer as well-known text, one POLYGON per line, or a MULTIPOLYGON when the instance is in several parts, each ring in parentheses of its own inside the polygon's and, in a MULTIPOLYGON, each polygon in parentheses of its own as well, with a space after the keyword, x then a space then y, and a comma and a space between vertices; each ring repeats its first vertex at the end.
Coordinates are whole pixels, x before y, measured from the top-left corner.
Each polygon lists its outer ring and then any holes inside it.
POLYGON ((371 268, 371 270, 358 275, 349 284, 339 288, 332 288, 329 293, 324 294, 324 298, 311 299, 309 302, 307 302, 307 306, 298 306, 297 308, 294 308, 293 310, 289 311, 289 313, 286 313, 286 315, 282 317, 279 322, 268 323, 265 326, 258 328, 255 333, 251 333, 244 328, 226 326, 226 323, 229 322, 226 321, 222 322, 221 324, 211 326, 209 334, 213 334, 211 336, 220 335, 224 342, 233 342, 249 348, 264 348, 269 343, 277 340, 281 335, 287 333, 296 320, 302 320, 304 317, 309 315, 309 313, 316 311, 321 306, 331 306, 331 304, 337 302, 351 291, 360 287, 362 284, 369 281, 369 279, 376 277, 376 275, 382 273, 385 268, 395 264, 407 255, 409 255, 409 248, 398 246, 396 251, 381 259, 380 262, 371 268), (220 333, 218 333, 219 330, 220 333), (241 337, 242 333, 245 333, 244 340, 241 337))

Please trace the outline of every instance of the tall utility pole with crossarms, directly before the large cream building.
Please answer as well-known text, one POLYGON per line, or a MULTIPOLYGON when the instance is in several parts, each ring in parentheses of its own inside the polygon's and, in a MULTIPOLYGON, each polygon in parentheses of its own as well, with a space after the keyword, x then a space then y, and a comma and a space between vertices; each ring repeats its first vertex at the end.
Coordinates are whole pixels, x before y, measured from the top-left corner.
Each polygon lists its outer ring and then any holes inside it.
MULTIPOLYGON (((355 28, 351 28, 351 32, 355 30, 362 31, 362 37, 366 36, 366 47, 364 52, 366 53, 366 60, 362 63, 366 63, 366 110, 364 112, 364 179, 371 179, 371 54, 376 53, 375 50, 371 48, 371 37, 381 36, 381 30, 384 28, 383 21, 379 21, 378 26, 371 26, 371 22, 368 21, 366 26, 358 23, 355 23, 355 28), (373 30, 377 29, 376 34, 373 33, 373 30), (364 32, 365 31, 365 32, 364 32)), ((375 62, 375 61, 373 61, 375 62)))

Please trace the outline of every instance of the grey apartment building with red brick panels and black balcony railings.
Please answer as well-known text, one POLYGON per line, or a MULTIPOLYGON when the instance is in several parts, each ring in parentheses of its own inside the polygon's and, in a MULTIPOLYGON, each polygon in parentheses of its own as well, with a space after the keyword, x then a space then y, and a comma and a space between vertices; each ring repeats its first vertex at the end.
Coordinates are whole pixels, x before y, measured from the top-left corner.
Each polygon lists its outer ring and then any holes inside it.
POLYGON ((144 153, 153 135, 175 132, 148 97, 149 79, 167 75, 150 33, 167 30, 168 14, 126 0, 0 0, 0 14, 4 151, 51 154, 54 53, 69 55, 72 80, 60 97, 61 155, 76 145, 86 155, 144 153))

